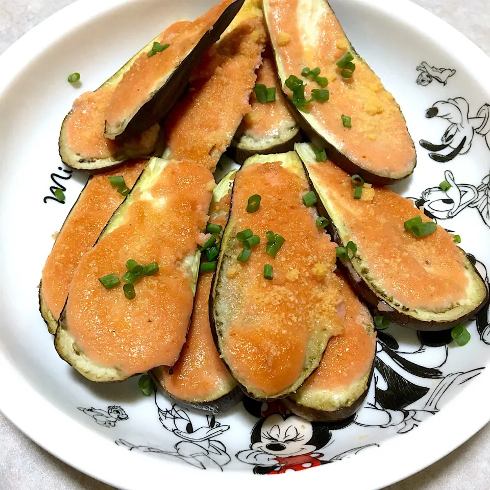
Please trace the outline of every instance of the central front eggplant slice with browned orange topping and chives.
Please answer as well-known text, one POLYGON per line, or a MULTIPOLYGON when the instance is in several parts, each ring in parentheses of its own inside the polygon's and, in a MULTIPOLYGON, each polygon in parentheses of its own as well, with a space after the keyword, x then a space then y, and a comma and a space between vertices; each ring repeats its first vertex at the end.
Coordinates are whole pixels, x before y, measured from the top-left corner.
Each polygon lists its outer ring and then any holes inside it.
POLYGON ((211 325, 222 359, 252 398, 297 390, 342 330, 335 247, 305 205, 311 194, 295 152, 251 157, 235 178, 211 325))

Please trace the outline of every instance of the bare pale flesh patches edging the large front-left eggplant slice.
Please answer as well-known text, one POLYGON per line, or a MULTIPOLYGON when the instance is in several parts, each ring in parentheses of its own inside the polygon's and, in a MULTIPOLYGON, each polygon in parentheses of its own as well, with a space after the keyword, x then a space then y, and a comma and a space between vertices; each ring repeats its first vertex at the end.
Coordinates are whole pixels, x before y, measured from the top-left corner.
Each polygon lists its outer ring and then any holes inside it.
MULTIPOLYGON (((152 195, 147 191, 147 189, 151 188, 153 183, 162 173, 163 169, 170 163, 171 160, 165 160, 157 157, 152 157, 150 159, 149 163, 145 166, 142 174, 139 176, 135 185, 131 189, 131 192, 116 209, 94 246, 96 246, 96 244, 106 235, 110 234, 119 226, 124 224, 127 212, 132 206, 133 202, 137 201, 138 199, 153 199, 152 195)), ((200 261, 201 253, 198 250, 196 250, 193 254, 187 255, 182 260, 184 267, 186 267, 188 271, 188 276, 190 277, 190 287, 193 294, 195 294, 195 289, 197 286, 200 261)), ((75 336, 69 332, 69 326, 66 320, 68 298, 66 299, 65 306, 58 321, 58 328, 56 329, 55 348, 58 355, 68 364, 75 367, 80 374, 90 381, 111 382, 127 379, 128 375, 123 370, 119 369, 119 367, 107 367, 95 363, 77 345, 75 336)))

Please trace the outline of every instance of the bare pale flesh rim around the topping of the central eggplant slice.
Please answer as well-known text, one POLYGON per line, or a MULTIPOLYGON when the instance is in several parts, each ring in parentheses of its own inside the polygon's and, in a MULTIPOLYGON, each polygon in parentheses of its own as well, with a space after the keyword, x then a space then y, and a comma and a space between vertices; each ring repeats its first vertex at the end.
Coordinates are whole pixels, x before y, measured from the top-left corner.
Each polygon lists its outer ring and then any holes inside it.
MULTIPOLYGON (((291 171, 291 173, 295 173, 305 179, 306 183, 304 170, 295 152, 289 152, 285 154, 256 155, 249 158, 243 164, 242 169, 247 168, 249 165, 252 165, 254 163, 263 164, 272 162, 280 162, 280 164, 291 171)), ((234 194, 235 189, 236 181, 234 186, 234 194)), ((228 294, 229 291, 227 291, 227 287, 229 287, 229 281, 233 279, 230 279, 228 272, 236 266, 236 254, 239 250, 239 242, 236 239, 236 233, 239 230, 237 229, 237 223, 233 215, 233 195, 230 217, 228 219, 227 226, 223 232, 222 245, 220 248, 220 253, 216 266, 216 273, 213 278, 213 284, 211 287, 209 298, 209 314, 212 333, 214 336, 216 347, 218 349, 218 352, 222 356, 223 361, 227 365, 230 373, 235 378, 240 388, 248 397, 257 400, 282 399, 297 390, 305 382, 308 376, 316 369, 321 361, 328 339, 331 337, 331 335, 335 334, 333 332, 334 327, 331 327, 331 331, 314 332, 311 335, 310 340, 307 344, 307 351, 304 356, 300 376, 289 387, 287 387, 280 393, 275 393, 273 395, 268 394, 262 389, 252 386, 250 383, 247 382, 245 378, 243 378, 236 370, 234 370, 233 366, 230 363, 230 360, 227 357, 225 349, 225 338, 228 333, 228 328, 229 326, 231 326, 231 312, 233 310, 233 307, 230 304, 230 298, 228 294)), ((310 212, 313 214, 314 218, 315 216, 317 216, 313 208, 310 208, 310 212)), ((263 240, 263 238, 261 239, 263 240)), ((260 246, 263 246, 262 243, 260 244, 260 246)))

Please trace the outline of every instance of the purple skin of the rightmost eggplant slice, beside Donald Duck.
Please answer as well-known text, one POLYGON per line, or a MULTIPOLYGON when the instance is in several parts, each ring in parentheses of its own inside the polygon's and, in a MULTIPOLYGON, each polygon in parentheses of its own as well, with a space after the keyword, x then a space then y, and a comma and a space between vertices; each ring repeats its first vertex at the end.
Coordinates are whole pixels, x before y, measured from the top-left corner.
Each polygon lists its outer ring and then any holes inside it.
MULTIPOLYGON (((320 195, 318 195, 315 187, 313 186, 313 183, 311 182, 308 171, 306 169, 306 165, 305 165, 305 171, 306 171, 306 175, 308 176, 310 186, 316 195, 316 207, 318 209, 318 214, 320 214, 320 216, 326 217, 329 220, 329 224, 325 230, 332 237, 332 240, 335 243, 337 243, 341 247, 344 247, 345 243, 342 243, 342 240, 337 231, 337 227, 333 224, 333 219, 329 216, 327 210, 325 209, 325 206, 322 203, 322 200, 320 199, 320 195)), ((462 254, 465 255, 465 252, 462 249, 459 250, 461 251, 462 254)), ((337 259, 337 265, 339 269, 342 271, 342 273, 344 273, 347 281, 349 282, 349 285, 352 287, 356 295, 359 296, 359 298, 361 298, 367 304, 367 306, 370 308, 373 314, 386 316, 392 322, 398 323, 403 327, 411 328, 413 330, 434 332, 438 330, 448 330, 450 328, 456 327, 457 325, 460 325, 461 323, 468 321, 473 316, 475 316, 488 301, 488 290, 487 290, 485 298, 473 311, 470 311, 469 313, 460 316, 459 318, 456 318, 456 320, 452 320, 449 322, 437 322, 435 320, 430 322, 424 322, 422 320, 419 320, 418 318, 413 318, 409 314, 402 313, 401 311, 392 308, 386 301, 384 301, 382 297, 379 297, 364 282, 364 280, 357 274, 357 272, 354 269, 354 266, 350 262, 342 262, 339 259, 337 259)), ((473 264, 472 267, 476 272, 476 274, 478 275, 478 277, 482 280, 482 282, 484 282, 480 273, 478 272, 478 270, 473 264)), ((407 312, 408 311, 409 310, 407 309, 407 312)))

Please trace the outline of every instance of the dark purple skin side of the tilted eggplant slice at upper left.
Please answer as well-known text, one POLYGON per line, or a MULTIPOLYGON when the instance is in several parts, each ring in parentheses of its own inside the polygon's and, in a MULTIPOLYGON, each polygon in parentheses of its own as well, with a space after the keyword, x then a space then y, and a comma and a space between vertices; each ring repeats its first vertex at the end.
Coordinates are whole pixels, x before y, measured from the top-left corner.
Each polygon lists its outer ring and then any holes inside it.
POLYGON ((116 136, 117 139, 136 136, 152 127, 157 122, 165 119, 174 104, 180 99, 187 88, 187 82, 195 65, 203 57, 204 53, 219 39, 230 22, 241 9, 244 0, 235 0, 219 16, 213 28, 207 31, 195 45, 193 50, 184 58, 182 63, 174 70, 173 74, 152 97, 143 104, 134 117, 128 122, 125 130, 116 136))

